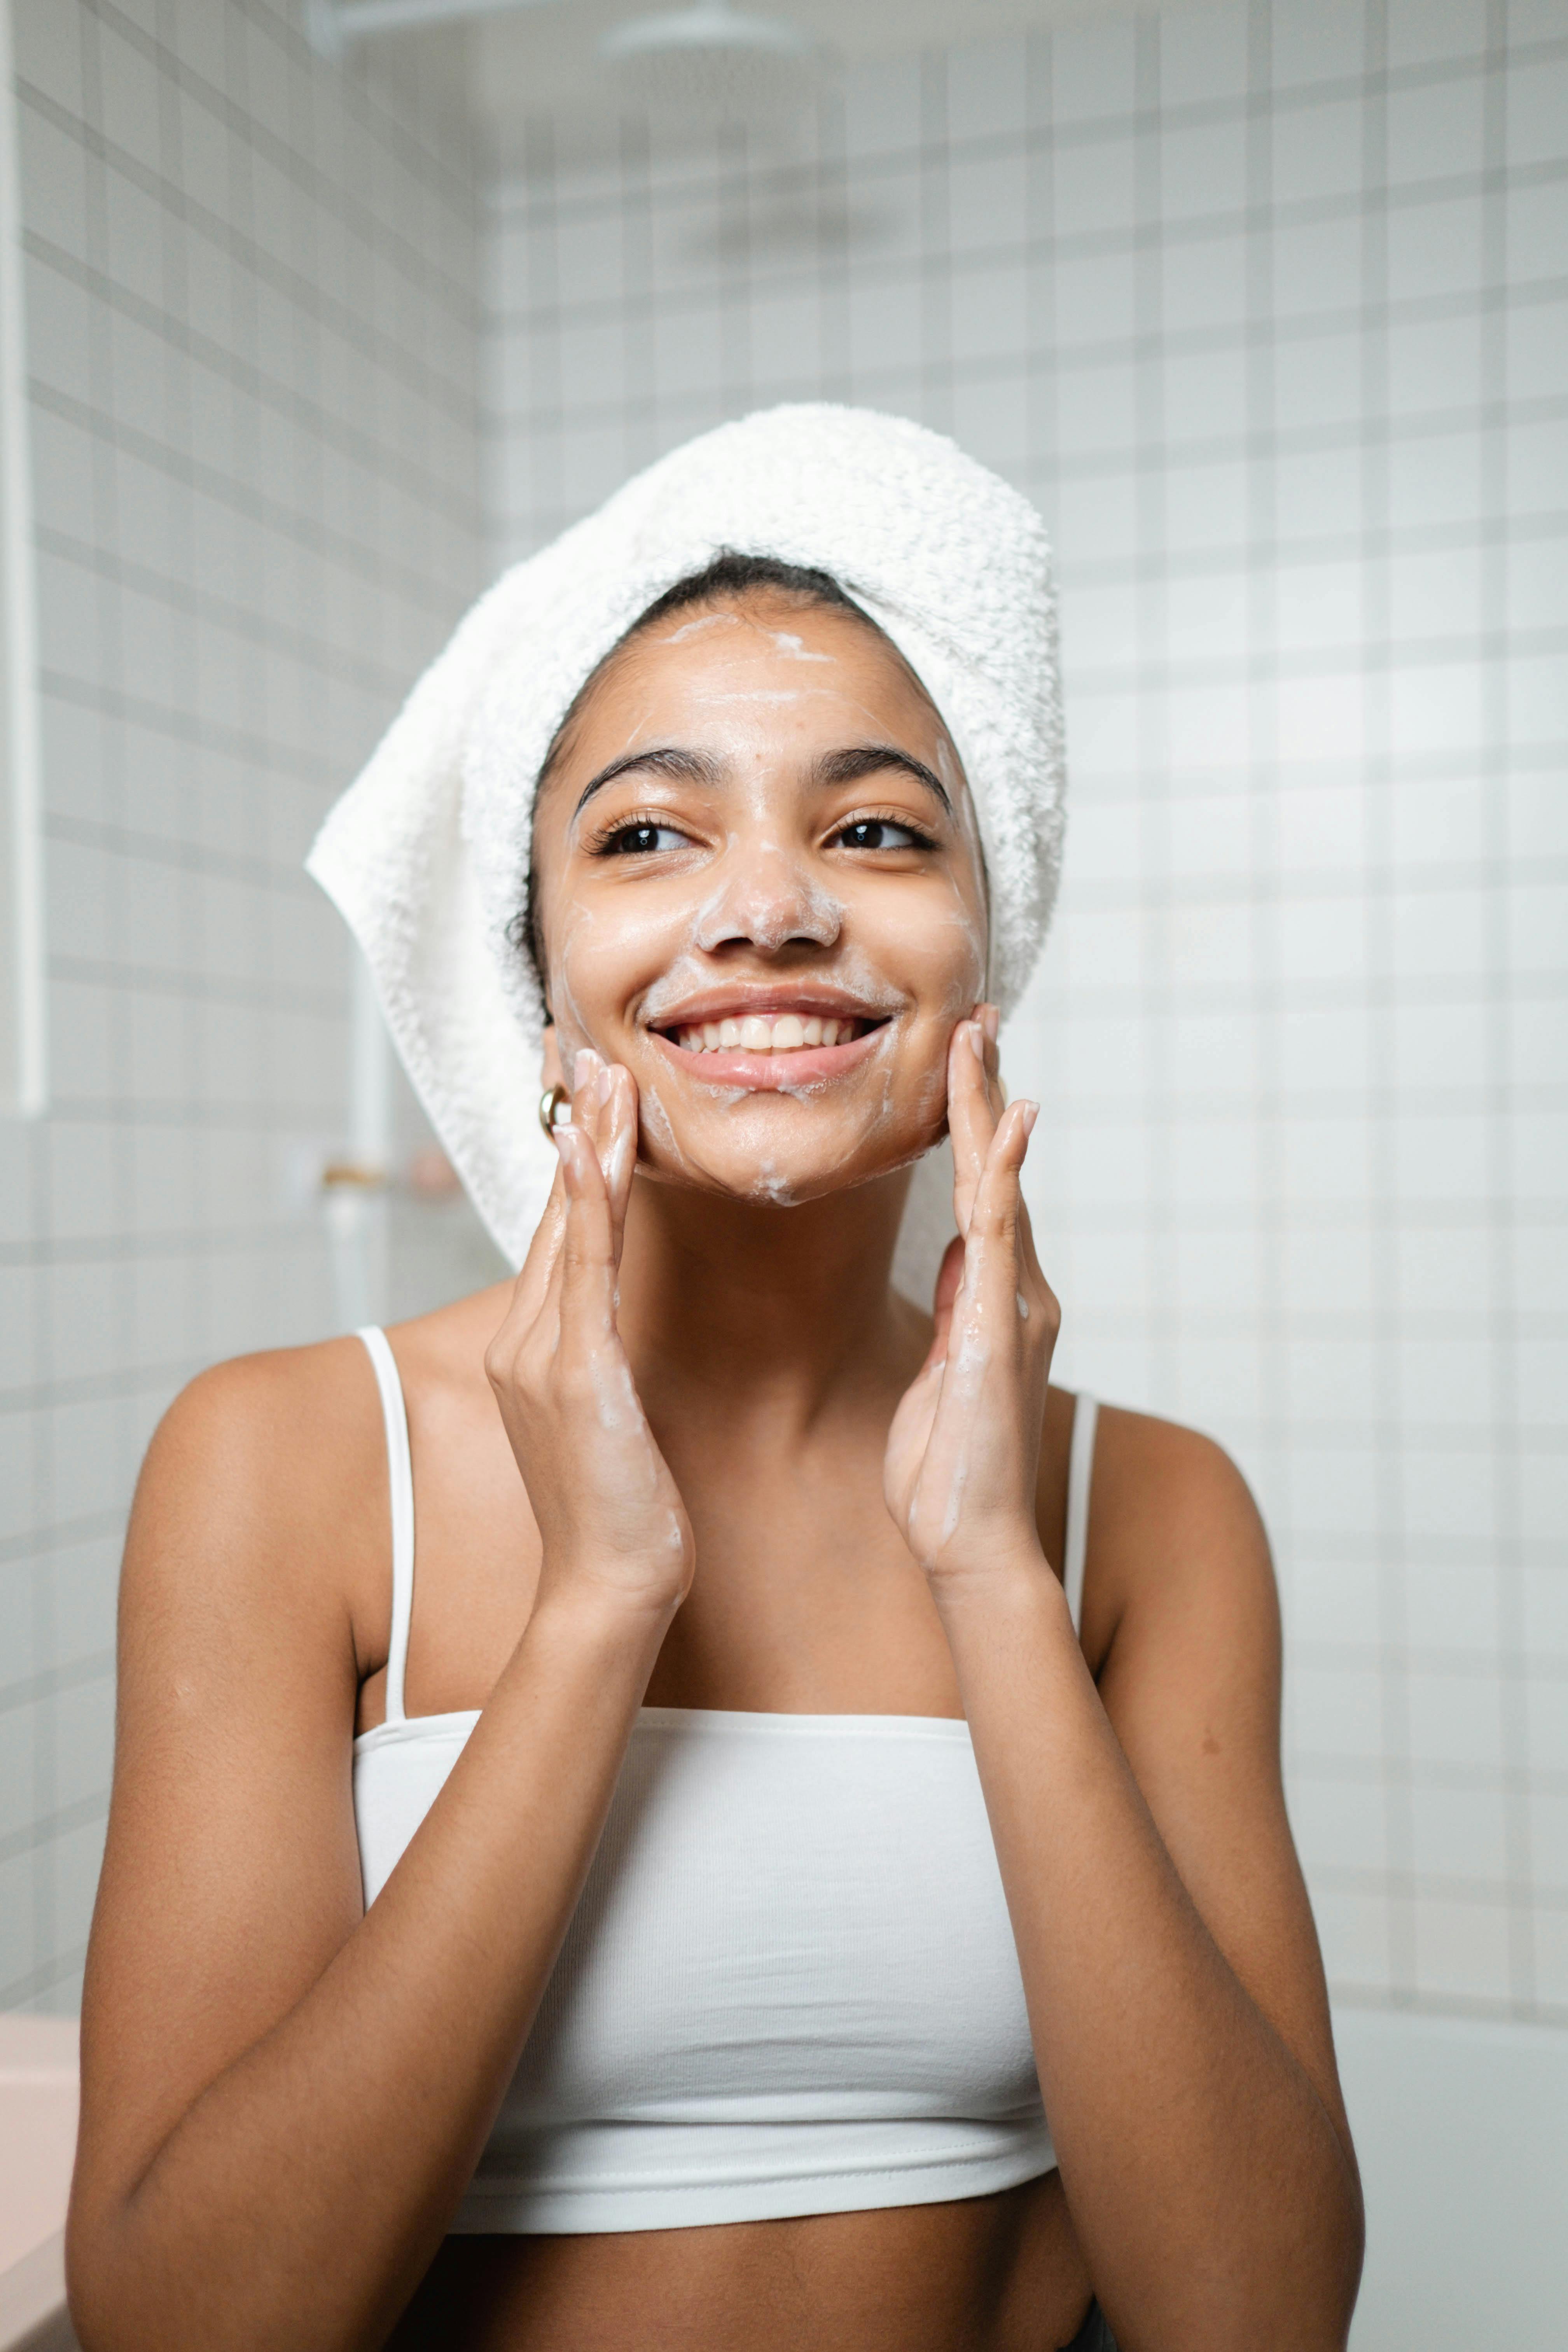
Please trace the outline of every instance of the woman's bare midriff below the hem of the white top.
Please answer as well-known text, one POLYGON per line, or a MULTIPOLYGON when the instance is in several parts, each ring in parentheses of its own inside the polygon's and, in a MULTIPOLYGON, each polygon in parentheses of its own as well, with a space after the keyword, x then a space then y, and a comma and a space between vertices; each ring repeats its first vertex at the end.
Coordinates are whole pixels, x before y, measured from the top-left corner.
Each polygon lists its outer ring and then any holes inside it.
POLYGON ((999 2197, 614 2237, 449 2237, 388 2352, 1056 2352, 1060 2173, 999 2197))

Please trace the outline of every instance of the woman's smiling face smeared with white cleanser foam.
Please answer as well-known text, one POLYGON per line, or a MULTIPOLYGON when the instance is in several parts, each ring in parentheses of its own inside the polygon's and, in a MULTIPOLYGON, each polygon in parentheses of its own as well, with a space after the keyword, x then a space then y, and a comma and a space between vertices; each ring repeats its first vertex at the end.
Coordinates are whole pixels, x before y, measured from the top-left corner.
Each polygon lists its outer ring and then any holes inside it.
POLYGON ((567 1075, 621 1061, 651 1176, 802 1202, 919 1157, 985 985, 964 771, 849 612, 776 593, 642 630, 541 793, 536 913, 567 1075))

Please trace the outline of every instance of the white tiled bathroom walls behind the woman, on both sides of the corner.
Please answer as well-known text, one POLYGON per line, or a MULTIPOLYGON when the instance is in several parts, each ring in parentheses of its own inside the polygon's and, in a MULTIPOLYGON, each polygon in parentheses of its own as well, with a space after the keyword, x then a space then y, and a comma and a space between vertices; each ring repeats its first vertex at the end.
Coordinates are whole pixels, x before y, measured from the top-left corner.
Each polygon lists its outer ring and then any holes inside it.
MULTIPOLYGON (((0 2006, 78 1997, 150 1423, 334 1327, 317 816, 487 572, 835 397, 1058 543, 1006 1058, 1060 1378, 1260 1491, 1335 1992, 1568 2018, 1568 0, 907 16, 677 139, 571 129, 522 19, 327 64, 282 0, 16 0, 54 1110, 0 1122, 0 2006)), ((491 1268, 393 1207, 393 1308, 491 1268)))

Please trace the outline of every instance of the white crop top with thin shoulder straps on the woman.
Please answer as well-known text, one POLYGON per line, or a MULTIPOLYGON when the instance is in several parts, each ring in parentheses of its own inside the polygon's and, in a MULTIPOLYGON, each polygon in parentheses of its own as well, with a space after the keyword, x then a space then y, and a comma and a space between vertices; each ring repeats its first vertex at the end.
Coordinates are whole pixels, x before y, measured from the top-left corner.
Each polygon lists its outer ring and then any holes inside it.
MULTIPOLYGON (((393 1350, 386 1722, 355 1740, 374 1903, 477 1724, 402 1712, 414 1482, 393 1350)), ((1095 1404, 1067 1482, 1072 1623, 1095 1404)), ((969 1724, 642 1708, 456 2232, 940 2204, 1056 2164, 969 1724)))

